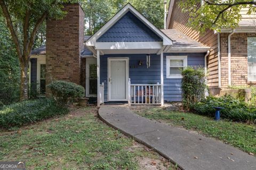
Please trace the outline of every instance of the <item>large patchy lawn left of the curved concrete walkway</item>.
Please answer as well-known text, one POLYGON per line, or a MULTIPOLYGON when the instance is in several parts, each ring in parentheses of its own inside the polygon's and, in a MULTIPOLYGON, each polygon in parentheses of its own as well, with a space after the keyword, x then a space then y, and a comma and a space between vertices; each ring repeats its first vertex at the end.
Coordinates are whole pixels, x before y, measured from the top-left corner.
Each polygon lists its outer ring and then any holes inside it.
POLYGON ((174 169, 153 150, 109 128, 97 108, 0 130, 0 161, 23 160, 28 169, 174 169))

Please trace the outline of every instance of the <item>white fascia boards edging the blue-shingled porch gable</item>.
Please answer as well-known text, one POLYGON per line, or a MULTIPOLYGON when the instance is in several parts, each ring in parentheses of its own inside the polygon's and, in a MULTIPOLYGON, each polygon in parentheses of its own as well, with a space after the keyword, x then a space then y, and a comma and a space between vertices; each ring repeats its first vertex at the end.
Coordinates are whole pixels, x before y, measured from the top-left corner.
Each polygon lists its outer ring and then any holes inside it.
POLYGON ((87 46, 95 46, 96 40, 103 35, 110 27, 112 27, 122 16, 124 16, 128 11, 132 12, 135 16, 138 17, 143 23, 148 25, 148 27, 154 31, 159 37, 163 38, 164 45, 172 45, 172 40, 165 35, 161 30, 155 27, 153 23, 148 21, 141 13, 139 13, 130 3, 125 5, 116 15, 113 16, 103 27, 101 27, 93 36, 91 36, 87 41, 87 46))

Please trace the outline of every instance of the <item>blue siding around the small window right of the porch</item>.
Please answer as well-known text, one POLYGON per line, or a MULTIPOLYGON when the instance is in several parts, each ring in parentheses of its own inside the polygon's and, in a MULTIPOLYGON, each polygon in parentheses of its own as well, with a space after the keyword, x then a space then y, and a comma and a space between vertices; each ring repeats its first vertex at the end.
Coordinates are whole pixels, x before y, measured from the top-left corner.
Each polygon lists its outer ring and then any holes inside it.
POLYGON ((181 79, 166 78, 166 56, 187 56, 188 66, 204 67, 204 53, 165 53, 164 54, 164 100, 181 101, 181 79))

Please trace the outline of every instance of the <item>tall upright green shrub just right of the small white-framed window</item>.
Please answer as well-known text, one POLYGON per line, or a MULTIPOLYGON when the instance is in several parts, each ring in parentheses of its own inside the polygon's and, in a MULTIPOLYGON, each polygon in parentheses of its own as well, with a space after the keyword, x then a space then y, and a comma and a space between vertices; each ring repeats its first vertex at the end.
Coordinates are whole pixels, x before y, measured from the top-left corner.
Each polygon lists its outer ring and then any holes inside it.
POLYGON ((182 105, 188 109, 189 105, 205 97, 206 73, 203 68, 187 67, 181 71, 182 105))

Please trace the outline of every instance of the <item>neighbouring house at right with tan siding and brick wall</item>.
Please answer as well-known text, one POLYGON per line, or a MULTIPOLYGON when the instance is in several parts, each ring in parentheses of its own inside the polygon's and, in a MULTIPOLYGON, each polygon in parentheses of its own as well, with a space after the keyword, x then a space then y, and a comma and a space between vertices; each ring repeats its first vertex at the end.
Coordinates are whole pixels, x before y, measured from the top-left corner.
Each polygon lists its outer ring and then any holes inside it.
POLYGON ((211 47, 207 56, 207 82, 211 94, 218 95, 221 89, 230 85, 256 84, 256 15, 247 15, 247 9, 243 8, 242 20, 236 29, 221 29, 220 33, 208 30, 200 35, 186 25, 189 14, 182 13, 177 2, 179 0, 170 1, 167 29, 178 30, 211 47))

